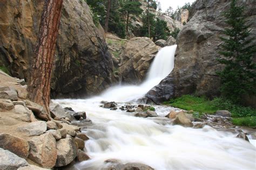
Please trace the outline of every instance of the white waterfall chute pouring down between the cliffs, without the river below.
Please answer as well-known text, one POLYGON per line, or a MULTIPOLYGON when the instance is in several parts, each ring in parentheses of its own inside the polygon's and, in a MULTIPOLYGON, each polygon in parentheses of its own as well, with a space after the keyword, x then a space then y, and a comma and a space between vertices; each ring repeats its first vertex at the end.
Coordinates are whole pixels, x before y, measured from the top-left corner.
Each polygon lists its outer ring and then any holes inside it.
POLYGON ((161 48, 154 58, 150 71, 147 74, 146 80, 138 85, 118 85, 107 89, 103 94, 97 96, 95 100, 129 102, 135 101, 143 97, 147 91, 156 86, 163 80, 174 67, 174 54, 177 45, 161 48))

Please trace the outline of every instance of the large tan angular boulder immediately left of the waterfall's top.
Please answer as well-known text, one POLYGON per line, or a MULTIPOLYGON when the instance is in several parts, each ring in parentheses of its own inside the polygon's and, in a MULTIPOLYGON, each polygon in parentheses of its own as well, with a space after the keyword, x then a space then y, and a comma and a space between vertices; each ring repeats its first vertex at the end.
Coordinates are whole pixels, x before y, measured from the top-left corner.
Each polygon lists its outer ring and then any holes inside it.
POLYGON ((130 39, 121 55, 120 79, 126 83, 142 82, 159 48, 147 37, 130 39))

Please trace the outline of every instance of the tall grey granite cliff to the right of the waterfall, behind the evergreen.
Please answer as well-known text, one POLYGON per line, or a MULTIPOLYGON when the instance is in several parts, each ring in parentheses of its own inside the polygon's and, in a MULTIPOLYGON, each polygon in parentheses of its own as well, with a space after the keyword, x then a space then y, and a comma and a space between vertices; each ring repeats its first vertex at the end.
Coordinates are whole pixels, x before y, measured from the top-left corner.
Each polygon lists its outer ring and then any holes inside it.
MULTIPOLYGON (((246 6, 252 36, 256 36, 256 2, 238 1, 246 6)), ((215 74, 223 68, 217 62, 220 36, 226 24, 221 11, 229 8, 230 1, 198 0, 193 4, 193 17, 177 37, 174 69, 158 86, 146 94, 159 103, 184 94, 214 97, 219 95, 220 80, 215 74)), ((255 56, 256 57, 256 56, 255 56)))

